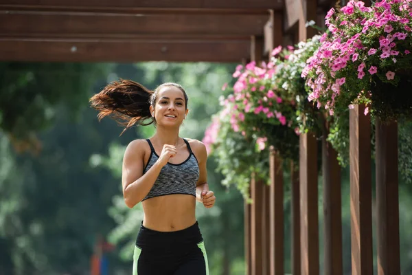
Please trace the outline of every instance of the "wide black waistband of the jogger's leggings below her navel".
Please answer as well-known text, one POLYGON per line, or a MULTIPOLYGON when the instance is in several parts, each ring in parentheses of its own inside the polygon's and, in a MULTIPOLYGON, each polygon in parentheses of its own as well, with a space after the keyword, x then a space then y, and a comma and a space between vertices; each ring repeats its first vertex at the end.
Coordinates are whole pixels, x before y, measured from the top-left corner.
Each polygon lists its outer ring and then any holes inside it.
POLYGON ((176 246, 196 245, 201 241, 203 241, 203 237, 197 221, 188 228, 171 232, 160 232, 146 228, 142 222, 137 235, 136 245, 139 248, 173 249, 176 246))

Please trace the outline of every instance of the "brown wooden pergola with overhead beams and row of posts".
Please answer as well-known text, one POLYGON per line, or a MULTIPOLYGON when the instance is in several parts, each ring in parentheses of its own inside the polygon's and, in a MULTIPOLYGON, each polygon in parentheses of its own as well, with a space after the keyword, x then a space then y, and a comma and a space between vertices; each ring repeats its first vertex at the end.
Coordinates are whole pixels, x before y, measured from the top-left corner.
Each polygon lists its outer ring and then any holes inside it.
MULTIPOLYGON (((277 45, 304 41, 332 0, 0 0, 0 61, 267 61, 277 45)), ((350 113, 352 274, 373 274, 370 118, 350 113)), ((325 125, 325 133, 328 125, 325 125)), ((323 135, 325 136, 325 135, 323 135)), ((324 274, 342 270, 341 174, 323 139, 324 274)), ((293 274, 319 274, 317 140, 300 137, 293 173, 293 274)), ((248 275, 284 274, 284 180, 275 151, 271 186, 251 182, 245 203, 248 275)), ((376 124, 378 274, 400 274, 396 123, 376 124), (391 131, 389 131, 391 130, 391 131)), ((293 170, 293 169, 292 169, 293 170)), ((348 198, 349 199, 349 198, 348 198)))

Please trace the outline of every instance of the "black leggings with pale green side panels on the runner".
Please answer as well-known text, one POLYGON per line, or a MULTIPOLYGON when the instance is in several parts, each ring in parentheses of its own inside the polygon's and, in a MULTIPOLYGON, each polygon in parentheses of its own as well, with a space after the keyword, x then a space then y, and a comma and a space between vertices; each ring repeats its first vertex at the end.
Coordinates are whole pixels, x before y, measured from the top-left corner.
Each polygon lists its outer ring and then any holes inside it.
POLYGON ((133 256, 133 275, 209 275, 198 223, 175 232, 141 225, 133 256))

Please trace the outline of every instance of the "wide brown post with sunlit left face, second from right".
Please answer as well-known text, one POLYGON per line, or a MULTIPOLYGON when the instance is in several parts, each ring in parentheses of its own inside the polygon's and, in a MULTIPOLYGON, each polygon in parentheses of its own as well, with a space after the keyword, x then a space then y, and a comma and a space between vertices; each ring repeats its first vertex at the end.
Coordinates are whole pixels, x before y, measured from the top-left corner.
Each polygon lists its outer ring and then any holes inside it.
POLYGON ((374 274, 372 254, 371 122, 365 105, 350 110, 352 274, 374 274))

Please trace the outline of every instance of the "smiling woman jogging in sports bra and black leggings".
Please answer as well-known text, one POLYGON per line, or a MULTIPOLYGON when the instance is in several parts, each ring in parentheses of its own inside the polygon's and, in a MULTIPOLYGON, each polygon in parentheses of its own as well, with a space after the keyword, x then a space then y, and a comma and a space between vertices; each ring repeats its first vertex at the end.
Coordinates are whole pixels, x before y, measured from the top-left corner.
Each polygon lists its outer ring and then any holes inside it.
POLYGON ((181 85, 164 83, 150 91, 131 80, 107 85, 91 106, 124 124, 155 123, 147 140, 133 140, 124 153, 122 186, 126 205, 144 208, 133 256, 133 275, 209 274, 196 200, 206 208, 216 197, 207 185, 205 145, 179 137, 188 113, 181 85))

